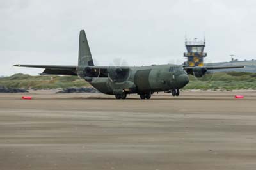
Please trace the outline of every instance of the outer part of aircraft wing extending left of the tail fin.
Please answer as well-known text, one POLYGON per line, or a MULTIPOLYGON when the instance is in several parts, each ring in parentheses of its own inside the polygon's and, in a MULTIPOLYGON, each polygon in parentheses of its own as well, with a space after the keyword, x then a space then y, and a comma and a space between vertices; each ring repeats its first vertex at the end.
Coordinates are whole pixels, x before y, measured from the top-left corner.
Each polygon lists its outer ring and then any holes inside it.
POLYGON ((13 65, 18 67, 45 68, 43 75, 77 75, 77 66, 60 65, 13 65))

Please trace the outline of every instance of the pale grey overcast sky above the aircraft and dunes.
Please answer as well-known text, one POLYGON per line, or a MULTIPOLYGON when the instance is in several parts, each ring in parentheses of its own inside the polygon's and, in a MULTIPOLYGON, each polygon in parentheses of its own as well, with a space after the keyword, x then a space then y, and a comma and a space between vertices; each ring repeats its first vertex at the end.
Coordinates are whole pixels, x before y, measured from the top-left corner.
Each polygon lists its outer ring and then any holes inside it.
POLYGON ((255 18, 255 0, 0 0, 0 75, 77 65, 81 29, 97 65, 181 64, 185 33, 205 35, 205 61, 256 59, 255 18))

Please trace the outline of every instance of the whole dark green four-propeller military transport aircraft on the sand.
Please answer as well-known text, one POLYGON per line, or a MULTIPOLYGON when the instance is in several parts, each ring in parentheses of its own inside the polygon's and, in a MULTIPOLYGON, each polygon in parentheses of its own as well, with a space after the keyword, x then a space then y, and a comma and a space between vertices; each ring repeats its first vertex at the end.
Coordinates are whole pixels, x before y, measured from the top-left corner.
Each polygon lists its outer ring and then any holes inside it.
POLYGON ((223 68, 243 68, 243 66, 225 67, 186 67, 179 65, 151 66, 95 66, 84 30, 79 35, 78 66, 60 65, 13 65, 33 68, 45 68, 45 75, 78 75, 94 88, 116 99, 125 99, 127 94, 137 93, 141 99, 150 99, 154 92, 164 91, 179 96, 179 89, 188 84, 187 74, 202 77, 207 70, 223 68))

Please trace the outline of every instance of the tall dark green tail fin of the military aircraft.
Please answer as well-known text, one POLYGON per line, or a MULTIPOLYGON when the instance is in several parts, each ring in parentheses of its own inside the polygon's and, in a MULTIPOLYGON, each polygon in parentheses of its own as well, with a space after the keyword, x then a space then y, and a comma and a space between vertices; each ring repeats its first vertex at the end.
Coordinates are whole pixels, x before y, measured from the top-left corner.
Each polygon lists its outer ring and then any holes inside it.
POLYGON ((78 66, 94 66, 92 54, 84 30, 81 30, 79 35, 78 66))

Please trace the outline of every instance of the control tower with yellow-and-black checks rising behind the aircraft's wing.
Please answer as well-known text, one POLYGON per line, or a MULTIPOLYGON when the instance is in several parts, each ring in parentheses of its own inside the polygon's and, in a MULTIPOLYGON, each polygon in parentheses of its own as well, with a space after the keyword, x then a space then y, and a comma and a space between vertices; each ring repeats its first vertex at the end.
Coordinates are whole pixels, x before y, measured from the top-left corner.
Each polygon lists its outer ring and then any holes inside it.
POLYGON ((186 66, 204 66, 204 59, 207 53, 204 53, 205 40, 185 41, 187 52, 184 52, 184 57, 188 58, 184 63, 186 66))

